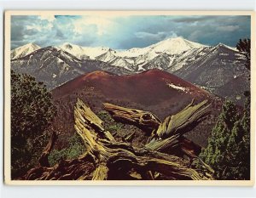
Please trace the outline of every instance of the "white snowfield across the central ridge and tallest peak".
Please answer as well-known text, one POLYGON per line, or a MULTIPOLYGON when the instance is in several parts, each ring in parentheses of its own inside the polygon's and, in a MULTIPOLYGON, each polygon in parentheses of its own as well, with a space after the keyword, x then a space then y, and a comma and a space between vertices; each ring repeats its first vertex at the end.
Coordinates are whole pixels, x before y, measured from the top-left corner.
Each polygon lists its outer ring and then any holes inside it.
MULTIPOLYGON (((168 62, 171 65, 175 56, 179 56, 192 49, 206 47, 197 42, 190 42, 183 37, 168 38, 146 48, 131 48, 121 51, 103 47, 82 47, 71 43, 64 43, 60 46, 61 49, 79 59, 98 59, 111 65, 124 67, 130 71, 145 71, 149 68, 147 66, 143 67, 143 65, 148 64, 149 61, 155 62, 155 59, 164 56, 170 56, 168 62)), ((161 66, 157 68, 163 69, 161 66)))

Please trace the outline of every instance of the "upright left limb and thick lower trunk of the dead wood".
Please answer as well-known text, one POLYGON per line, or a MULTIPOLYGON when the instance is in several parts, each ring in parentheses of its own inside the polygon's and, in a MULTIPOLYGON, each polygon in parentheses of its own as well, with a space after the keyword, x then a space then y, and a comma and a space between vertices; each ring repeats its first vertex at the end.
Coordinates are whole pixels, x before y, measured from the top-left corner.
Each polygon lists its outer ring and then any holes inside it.
MULTIPOLYGON (((177 179, 206 179, 196 173, 195 170, 184 167, 181 162, 183 160, 177 156, 166 155, 146 148, 137 149, 132 147, 131 144, 117 143, 113 140, 113 137, 111 140, 102 139, 98 135, 98 130, 100 129, 100 133, 103 134, 108 132, 103 130, 102 127, 91 127, 91 125, 97 124, 93 124, 91 117, 95 117, 95 115, 92 111, 90 113, 89 111, 90 109, 86 108, 79 100, 75 108, 75 129, 84 139, 84 143, 91 154, 96 156, 97 165, 94 179, 112 179, 114 178, 111 174, 113 170, 117 174, 119 170, 122 170, 121 174, 126 175, 131 175, 131 172, 135 170, 142 178, 143 173, 154 171, 177 179), (84 113, 84 110, 87 113, 84 113), (92 116, 85 116, 88 114, 92 116)), ((129 112, 131 111, 129 110, 129 112)), ((142 115, 142 112, 139 112, 142 115)))

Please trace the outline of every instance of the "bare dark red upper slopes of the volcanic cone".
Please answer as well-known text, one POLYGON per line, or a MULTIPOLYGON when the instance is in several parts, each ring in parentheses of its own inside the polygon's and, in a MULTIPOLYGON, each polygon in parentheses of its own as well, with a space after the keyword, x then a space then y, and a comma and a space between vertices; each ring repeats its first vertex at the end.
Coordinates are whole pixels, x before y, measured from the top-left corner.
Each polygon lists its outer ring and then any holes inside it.
POLYGON ((161 101, 189 98, 208 98, 207 91, 160 70, 144 71, 130 76, 117 76, 94 71, 79 76, 54 90, 54 97, 80 92, 84 88, 100 91, 108 99, 125 99, 142 105, 157 105, 161 101), (168 85, 169 84, 169 85, 168 85), (171 84, 171 85, 170 85, 171 84))

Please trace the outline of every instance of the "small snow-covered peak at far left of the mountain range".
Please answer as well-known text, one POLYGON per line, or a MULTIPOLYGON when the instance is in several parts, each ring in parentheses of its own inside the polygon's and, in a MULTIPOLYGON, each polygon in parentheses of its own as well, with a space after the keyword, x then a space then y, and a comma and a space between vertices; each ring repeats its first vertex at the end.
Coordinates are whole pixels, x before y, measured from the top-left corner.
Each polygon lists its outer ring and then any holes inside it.
POLYGON ((19 59, 21 57, 24 57, 28 54, 31 54, 32 52, 38 50, 40 47, 36 45, 35 43, 28 43, 26 45, 23 45, 19 48, 15 48, 11 50, 11 59, 19 59))

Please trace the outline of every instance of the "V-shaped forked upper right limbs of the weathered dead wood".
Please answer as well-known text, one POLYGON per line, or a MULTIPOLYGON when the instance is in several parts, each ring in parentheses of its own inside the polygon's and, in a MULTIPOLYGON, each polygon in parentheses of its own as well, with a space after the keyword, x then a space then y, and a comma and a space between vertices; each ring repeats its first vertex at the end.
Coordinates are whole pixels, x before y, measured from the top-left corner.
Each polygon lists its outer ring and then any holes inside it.
MULTIPOLYGON (((192 102, 183 110, 172 116, 167 116, 164 122, 153 113, 143 110, 124 108, 118 105, 103 104, 116 121, 128 122, 144 130, 151 131, 151 141, 145 145, 149 150, 173 150, 177 148, 183 154, 194 158, 201 151, 201 146, 183 137, 199 124, 208 114, 207 100, 198 105, 192 102), (145 119, 148 118, 148 119, 145 119)), ((177 150, 173 150, 177 152, 177 150)))

